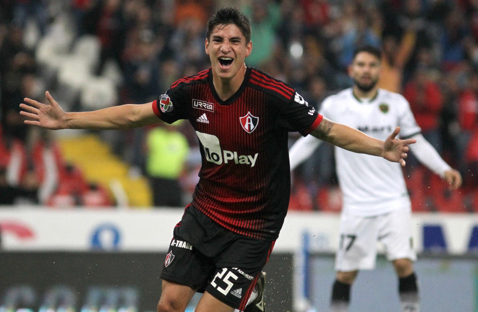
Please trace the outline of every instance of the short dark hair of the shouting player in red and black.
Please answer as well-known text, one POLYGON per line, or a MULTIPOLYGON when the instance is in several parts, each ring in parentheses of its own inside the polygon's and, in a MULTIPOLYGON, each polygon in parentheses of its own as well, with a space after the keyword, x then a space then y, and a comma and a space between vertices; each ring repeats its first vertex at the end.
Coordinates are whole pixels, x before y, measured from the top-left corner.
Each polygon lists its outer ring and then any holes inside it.
POLYGON ((209 40, 214 27, 217 25, 235 24, 245 37, 245 44, 250 41, 250 21, 235 7, 223 7, 218 9, 208 20, 206 38, 209 40))

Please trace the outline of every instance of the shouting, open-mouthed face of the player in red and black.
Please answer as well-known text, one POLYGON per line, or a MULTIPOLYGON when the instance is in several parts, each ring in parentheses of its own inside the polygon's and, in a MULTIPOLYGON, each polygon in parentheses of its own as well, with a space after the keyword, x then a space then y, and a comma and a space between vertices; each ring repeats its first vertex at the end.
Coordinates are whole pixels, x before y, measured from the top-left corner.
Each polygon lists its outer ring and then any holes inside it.
POLYGON ((235 78, 239 70, 245 70, 244 60, 252 50, 252 42, 245 42, 236 24, 217 25, 205 45, 213 74, 222 79, 235 78))

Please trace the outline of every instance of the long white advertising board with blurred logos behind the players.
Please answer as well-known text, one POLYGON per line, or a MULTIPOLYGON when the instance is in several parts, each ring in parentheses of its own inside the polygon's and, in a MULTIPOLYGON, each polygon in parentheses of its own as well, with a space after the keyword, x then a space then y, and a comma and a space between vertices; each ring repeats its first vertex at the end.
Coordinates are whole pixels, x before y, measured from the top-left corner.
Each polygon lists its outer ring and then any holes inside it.
MULTIPOLYGON (((1 249, 166 251, 182 209, 0 208, 1 249)), ((290 211, 274 251, 308 248, 334 252, 339 244, 335 213, 290 211)), ((478 214, 413 214, 418 252, 460 255, 478 250, 478 214)))

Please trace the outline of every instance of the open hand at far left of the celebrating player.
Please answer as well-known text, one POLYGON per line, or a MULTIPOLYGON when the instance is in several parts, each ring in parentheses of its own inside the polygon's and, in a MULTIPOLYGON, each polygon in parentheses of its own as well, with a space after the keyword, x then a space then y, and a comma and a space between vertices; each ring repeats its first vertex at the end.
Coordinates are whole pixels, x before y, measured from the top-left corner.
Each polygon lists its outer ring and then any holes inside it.
POLYGON ((32 99, 25 98, 26 104, 20 104, 20 115, 27 117, 25 124, 40 126, 47 129, 64 129, 65 112, 53 99, 50 93, 45 92, 49 104, 42 104, 32 99))

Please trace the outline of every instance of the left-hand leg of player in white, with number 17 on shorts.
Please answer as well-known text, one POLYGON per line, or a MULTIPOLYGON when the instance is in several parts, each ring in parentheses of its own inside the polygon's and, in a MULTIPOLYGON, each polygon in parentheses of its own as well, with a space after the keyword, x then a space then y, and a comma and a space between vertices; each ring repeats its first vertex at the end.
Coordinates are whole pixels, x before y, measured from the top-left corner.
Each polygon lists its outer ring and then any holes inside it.
POLYGON ((336 279, 332 287, 331 311, 348 311, 351 287, 359 270, 375 266, 377 227, 375 217, 342 213, 340 243, 336 253, 336 279))

